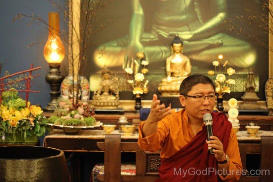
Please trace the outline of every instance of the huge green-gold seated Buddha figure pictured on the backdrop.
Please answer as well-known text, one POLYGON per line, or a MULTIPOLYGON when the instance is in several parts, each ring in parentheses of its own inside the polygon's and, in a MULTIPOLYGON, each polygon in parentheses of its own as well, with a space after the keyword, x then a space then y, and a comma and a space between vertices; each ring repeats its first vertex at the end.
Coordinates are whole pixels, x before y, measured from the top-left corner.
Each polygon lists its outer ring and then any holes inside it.
MULTIPOLYGON (((248 68, 256 61, 255 49, 246 41, 223 33, 227 18, 226 0, 132 0, 129 33, 98 46, 93 59, 98 67, 134 67, 137 52, 144 52, 150 63, 165 61, 175 35, 183 41, 191 62, 211 64, 219 54, 230 66, 248 68), (146 2, 152 9, 144 8, 146 2), (149 32, 144 31, 145 11, 151 10, 149 32), (106 50, 101 57, 101 50, 106 50)), ((147 17, 146 17, 147 18, 147 17)))

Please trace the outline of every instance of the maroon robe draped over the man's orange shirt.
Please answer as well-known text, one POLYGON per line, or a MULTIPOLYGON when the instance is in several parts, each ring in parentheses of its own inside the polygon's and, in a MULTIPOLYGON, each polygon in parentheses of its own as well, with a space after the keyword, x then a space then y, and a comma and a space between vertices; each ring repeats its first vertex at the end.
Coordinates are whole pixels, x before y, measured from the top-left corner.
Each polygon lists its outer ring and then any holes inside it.
MULTIPOLYGON (((219 138, 226 152, 232 124, 223 113, 211 115, 213 135, 219 138)), ((217 182, 217 161, 214 155, 208 153, 206 133, 204 125, 190 143, 170 158, 161 159, 158 169, 160 178, 156 182, 217 182)))

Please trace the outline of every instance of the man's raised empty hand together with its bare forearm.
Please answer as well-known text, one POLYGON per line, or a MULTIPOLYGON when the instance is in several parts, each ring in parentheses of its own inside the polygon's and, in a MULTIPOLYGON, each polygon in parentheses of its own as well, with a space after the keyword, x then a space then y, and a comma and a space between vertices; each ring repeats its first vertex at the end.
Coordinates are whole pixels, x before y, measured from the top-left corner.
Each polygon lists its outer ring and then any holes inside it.
POLYGON ((154 133, 157 129, 157 122, 172 113, 171 107, 165 108, 164 104, 159 104, 160 100, 157 100, 157 95, 153 94, 151 111, 142 129, 143 137, 154 133))

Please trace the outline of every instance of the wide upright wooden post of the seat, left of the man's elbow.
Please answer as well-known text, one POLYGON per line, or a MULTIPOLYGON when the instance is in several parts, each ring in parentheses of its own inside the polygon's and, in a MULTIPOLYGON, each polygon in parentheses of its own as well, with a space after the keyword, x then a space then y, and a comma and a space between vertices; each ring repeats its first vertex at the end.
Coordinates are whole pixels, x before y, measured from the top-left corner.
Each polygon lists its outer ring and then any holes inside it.
POLYGON ((106 182, 121 181, 121 135, 105 134, 104 170, 106 182))

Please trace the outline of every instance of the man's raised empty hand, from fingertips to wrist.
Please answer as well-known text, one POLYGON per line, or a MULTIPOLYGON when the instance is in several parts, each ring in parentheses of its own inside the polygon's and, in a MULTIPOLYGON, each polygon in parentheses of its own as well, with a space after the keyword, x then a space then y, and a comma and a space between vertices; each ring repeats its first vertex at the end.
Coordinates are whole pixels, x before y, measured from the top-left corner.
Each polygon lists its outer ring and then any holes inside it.
POLYGON ((147 121, 158 122, 162 120, 165 116, 171 114, 171 107, 165 108, 164 104, 160 104, 160 100, 157 99, 157 95, 153 94, 151 111, 147 118, 147 121))

